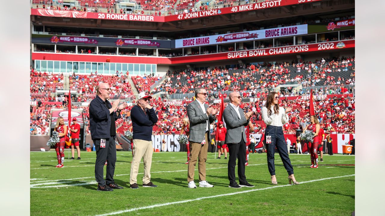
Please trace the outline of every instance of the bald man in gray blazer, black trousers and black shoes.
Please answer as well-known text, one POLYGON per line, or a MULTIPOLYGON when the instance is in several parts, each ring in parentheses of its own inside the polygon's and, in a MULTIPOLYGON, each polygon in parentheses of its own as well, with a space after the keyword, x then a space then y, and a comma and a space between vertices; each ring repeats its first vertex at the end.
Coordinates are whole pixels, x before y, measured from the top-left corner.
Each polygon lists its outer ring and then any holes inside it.
POLYGON ((226 123, 226 138, 224 143, 229 148, 228 178, 230 181, 229 188, 252 188, 254 185, 246 181, 244 168, 246 162, 246 130, 245 126, 249 124, 253 111, 246 114, 239 107, 242 97, 239 92, 232 92, 229 95, 230 103, 223 110, 223 119, 226 123), (235 181, 235 163, 238 157, 238 179, 239 185, 235 181))

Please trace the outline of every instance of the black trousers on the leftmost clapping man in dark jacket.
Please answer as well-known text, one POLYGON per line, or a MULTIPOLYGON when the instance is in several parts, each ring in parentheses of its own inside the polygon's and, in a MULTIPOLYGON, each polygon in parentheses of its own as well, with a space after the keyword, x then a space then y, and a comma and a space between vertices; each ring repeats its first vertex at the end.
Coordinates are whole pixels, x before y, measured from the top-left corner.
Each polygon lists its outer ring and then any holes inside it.
POLYGON ((115 136, 105 139, 105 148, 100 148, 100 139, 92 140, 96 150, 95 179, 99 185, 114 183, 116 162, 115 136), (107 160, 107 173, 104 180, 103 168, 107 160))

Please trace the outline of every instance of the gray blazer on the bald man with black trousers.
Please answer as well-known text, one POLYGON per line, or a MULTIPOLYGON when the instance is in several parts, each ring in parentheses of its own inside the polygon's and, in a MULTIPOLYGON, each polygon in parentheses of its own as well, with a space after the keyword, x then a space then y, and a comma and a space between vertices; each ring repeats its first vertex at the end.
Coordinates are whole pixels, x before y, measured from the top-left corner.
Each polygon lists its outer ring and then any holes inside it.
POLYGON ((244 126, 247 126, 249 124, 249 120, 244 117, 242 108, 239 109, 239 114, 241 115, 241 118, 239 119, 238 114, 234 110, 233 106, 230 104, 226 106, 223 110, 223 119, 226 123, 226 138, 224 139, 224 143, 240 143, 241 138, 243 136, 243 140, 246 142, 246 130, 244 129, 244 126), (242 131, 243 127, 243 132, 242 131))

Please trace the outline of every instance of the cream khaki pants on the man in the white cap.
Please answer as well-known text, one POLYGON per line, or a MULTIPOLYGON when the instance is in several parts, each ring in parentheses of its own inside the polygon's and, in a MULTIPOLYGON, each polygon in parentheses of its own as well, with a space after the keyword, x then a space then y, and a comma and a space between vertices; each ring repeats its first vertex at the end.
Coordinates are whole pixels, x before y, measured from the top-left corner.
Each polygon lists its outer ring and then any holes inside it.
POLYGON ((132 149, 132 163, 130 171, 130 184, 137 183, 136 177, 138 176, 139 163, 143 158, 144 176, 143 184, 148 184, 151 181, 151 162, 152 162, 152 141, 146 140, 133 140, 134 148, 132 149))

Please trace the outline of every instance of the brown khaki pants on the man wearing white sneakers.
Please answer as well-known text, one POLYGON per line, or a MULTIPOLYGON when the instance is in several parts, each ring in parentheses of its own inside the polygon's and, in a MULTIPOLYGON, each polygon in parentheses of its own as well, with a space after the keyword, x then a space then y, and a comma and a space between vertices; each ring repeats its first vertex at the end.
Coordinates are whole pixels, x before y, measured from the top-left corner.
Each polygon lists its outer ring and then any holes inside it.
POLYGON ((198 172, 199 172, 199 181, 206 180, 206 160, 207 160, 207 150, 209 147, 208 133, 205 134, 206 144, 202 145, 201 143, 190 143, 190 163, 187 169, 187 182, 194 181, 194 172, 196 161, 199 158, 198 162, 198 172))

